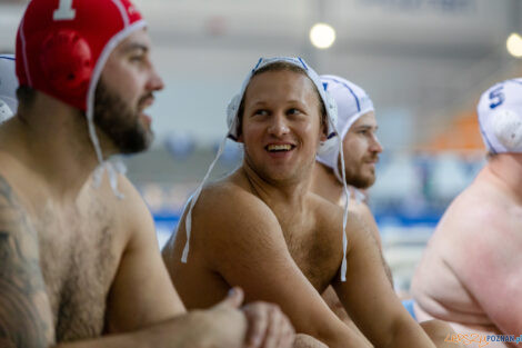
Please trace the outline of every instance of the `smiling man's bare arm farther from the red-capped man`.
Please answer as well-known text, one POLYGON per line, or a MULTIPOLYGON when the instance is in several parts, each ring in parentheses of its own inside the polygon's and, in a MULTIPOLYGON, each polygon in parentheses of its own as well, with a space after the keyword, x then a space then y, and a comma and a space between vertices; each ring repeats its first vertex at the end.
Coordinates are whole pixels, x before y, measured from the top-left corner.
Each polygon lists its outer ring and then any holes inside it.
POLYGON ((333 286, 350 317, 377 347, 434 347, 390 287, 372 231, 357 215, 349 221, 347 281, 333 286))

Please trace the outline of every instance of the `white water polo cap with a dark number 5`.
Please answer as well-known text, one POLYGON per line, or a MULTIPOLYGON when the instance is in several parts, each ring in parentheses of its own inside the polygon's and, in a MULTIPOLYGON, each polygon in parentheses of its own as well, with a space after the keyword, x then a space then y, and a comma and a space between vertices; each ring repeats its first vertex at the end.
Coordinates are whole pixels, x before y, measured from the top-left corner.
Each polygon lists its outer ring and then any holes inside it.
POLYGON ((492 153, 522 152, 522 79, 496 83, 476 106, 485 147, 492 153))

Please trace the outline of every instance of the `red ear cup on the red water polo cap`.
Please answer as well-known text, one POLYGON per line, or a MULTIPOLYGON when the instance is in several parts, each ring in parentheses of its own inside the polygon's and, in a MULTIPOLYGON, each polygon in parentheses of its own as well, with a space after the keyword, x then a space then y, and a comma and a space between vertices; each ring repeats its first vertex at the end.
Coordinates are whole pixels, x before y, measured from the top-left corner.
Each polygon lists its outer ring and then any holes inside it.
POLYGON ((74 30, 50 33, 41 46, 40 63, 59 93, 81 98, 89 88, 93 60, 89 43, 74 30))

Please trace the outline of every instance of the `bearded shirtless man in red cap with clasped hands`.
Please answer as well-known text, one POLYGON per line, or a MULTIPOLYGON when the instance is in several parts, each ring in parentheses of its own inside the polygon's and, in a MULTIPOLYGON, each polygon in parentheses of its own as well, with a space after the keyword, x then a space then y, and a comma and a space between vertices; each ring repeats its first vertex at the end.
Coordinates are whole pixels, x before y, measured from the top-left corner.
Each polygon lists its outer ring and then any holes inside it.
POLYGON ((0 347, 291 346, 275 306, 238 310, 240 289, 187 314, 150 212, 106 162, 152 139, 143 110, 163 82, 149 51, 128 0, 29 3, 20 103, 0 126, 0 347))

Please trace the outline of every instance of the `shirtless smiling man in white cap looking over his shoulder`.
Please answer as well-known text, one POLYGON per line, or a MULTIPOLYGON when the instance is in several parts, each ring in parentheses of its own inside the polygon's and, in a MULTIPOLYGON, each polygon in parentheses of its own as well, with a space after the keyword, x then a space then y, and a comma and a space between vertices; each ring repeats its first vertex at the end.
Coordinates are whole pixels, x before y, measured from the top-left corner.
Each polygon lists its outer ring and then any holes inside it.
POLYGON ((394 295, 375 239, 355 213, 345 229, 348 271, 341 267, 343 211, 309 189, 334 109, 301 59, 260 60, 229 107, 243 163, 199 199, 194 193, 163 259, 189 308, 241 286, 247 301, 278 304, 298 332, 332 348, 368 347, 322 300, 332 285, 373 345, 434 347, 394 295))

